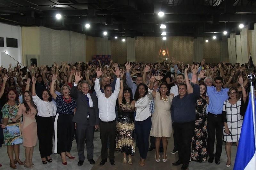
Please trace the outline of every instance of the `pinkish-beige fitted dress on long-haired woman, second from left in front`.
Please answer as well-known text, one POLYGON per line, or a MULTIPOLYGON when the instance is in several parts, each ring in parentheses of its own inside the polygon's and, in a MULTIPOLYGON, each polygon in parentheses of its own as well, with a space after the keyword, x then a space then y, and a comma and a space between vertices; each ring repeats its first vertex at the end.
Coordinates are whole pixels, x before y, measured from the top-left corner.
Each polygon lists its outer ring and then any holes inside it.
POLYGON ((23 115, 23 122, 21 124, 21 132, 23 136, 23 146, 33 147, 36 146, 37 140, 37 125, 36 125, 36 109, 30 108, 28 114, 25 113, 26 107, 21 104, 17 115, 23 115))

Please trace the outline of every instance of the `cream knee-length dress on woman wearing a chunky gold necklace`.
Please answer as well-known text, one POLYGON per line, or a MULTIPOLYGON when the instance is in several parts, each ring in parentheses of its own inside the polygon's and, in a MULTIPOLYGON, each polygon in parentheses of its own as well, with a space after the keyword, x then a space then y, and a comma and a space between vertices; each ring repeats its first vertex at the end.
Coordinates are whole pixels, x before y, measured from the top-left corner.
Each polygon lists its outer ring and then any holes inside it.
POLYGON ((171 137, 172 134, 172 118, 171 118, 171 104, 172 96, 167 96, 168 101, 160 100, 159 92, 156 92, 155 110, 152 114, 152 128, 150 136, 153 137, 171 137))

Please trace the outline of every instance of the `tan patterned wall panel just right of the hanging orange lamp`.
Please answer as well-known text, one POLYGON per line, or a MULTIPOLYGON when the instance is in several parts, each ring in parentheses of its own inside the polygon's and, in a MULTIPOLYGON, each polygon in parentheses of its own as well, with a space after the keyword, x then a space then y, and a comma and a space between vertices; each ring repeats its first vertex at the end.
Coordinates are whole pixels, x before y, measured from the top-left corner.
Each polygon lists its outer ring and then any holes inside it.
POLYGON ((194 37, 172 37, 172 56, 185 64, 192 63, 194 37))

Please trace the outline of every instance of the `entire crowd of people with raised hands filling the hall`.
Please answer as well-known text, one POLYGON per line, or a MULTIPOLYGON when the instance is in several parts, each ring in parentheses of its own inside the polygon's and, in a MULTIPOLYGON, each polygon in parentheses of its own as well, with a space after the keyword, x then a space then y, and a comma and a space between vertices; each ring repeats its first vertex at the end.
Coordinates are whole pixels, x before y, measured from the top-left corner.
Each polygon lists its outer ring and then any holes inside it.
POLYGON ((231 145, 238 146, 248 105, 246 76, 255 72, 248 63, 202 60, 185 65, 174 58, 157 63, 1 66, 0 147, 7 145, 11 168, 17 163, 33 168, 38 137, 43 164, 54 161, 54 149, 67 165, 67 157, 75 159, 70 153, 75 138, 77 165, 85 160, 84 143, 86 158, 94 164, 93 137, 100 128, 100 165, 107 158, 115 165, 119 151, 124 164, 132 164, 132 156, 139 154, 139 166, 144 166, 153 149, 157 163, 168 160, 167 139, 173 128, 171 153, 178 152, 179 159, 172 165, 187 169, 191 161, 212 163, 214 158, 220 164, 224 139, 230 167, 231 145), (21 143, 26 147, 24 162, 21 143))

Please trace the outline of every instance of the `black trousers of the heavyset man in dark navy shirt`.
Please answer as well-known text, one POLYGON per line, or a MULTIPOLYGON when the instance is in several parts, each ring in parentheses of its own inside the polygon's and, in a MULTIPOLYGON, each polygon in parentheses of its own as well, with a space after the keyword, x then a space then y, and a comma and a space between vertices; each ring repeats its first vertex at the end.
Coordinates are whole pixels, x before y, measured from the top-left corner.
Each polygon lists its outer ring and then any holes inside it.
POLYGON ((183 164, 189 164, 191 157, 191 139, 195 130, 195 122, 172 123, 173 130, 176 133, 179 161, 183 164))

